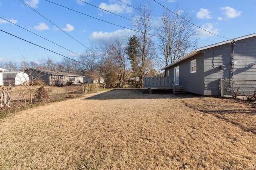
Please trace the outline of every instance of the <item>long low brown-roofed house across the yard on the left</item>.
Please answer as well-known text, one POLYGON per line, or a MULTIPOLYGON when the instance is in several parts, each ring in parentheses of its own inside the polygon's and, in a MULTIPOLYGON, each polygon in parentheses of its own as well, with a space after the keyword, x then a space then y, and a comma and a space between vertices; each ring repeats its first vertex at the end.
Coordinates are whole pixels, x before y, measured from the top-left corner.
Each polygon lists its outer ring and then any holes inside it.
POLYGON ((24 71, 30 80, 42 79, 46 85, 66 85, 84 83, 84 76, 61 71, 27 68, 24 71))

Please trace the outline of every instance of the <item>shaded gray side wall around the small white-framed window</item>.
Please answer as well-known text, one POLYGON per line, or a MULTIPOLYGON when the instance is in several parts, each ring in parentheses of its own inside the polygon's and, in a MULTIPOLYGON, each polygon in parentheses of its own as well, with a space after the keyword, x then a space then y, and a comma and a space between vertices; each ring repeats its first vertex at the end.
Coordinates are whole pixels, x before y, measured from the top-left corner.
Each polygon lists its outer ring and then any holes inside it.
POLYGON ((172 67, 166 69, 169 76, 174 77, 174 67, 179 66, 180 85, 184 90, 191 93, 204 94, 204 53, 199 53, 172 67), (196 59, 196 73, 190 73, 190 61, 196 59))

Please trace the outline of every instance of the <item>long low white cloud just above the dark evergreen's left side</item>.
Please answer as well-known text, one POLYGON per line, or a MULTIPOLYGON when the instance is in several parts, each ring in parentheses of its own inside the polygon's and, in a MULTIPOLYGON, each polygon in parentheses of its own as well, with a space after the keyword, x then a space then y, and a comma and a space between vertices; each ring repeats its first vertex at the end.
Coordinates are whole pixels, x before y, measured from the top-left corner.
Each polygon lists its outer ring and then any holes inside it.
MULTIPOLYGON (((133 33, 134 34, 134 33, 133 33)), ((93 43, 108 42, 118 38, 120 40, 127 39, 132 35, 132 31, 128 29, 116 30, 114 32, 93 32, 90 35, 90 41, 93 43)))

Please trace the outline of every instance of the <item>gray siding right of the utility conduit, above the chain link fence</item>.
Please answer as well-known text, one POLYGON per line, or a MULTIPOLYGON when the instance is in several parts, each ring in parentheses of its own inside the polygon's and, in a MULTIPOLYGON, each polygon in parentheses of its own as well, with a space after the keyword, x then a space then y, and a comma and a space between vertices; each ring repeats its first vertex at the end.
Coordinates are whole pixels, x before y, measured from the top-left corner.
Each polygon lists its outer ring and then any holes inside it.
POLYGON ((256 80, 256 37, 236 42, 234 80, 256 80))

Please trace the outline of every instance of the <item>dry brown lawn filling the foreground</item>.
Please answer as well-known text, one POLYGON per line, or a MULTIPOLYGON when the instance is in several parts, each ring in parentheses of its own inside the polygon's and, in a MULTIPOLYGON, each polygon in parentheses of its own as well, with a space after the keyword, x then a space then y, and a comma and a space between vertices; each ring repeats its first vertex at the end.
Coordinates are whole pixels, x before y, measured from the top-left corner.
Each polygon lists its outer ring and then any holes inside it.
POLYGON ((112 90, 0 119, 0 169, 256 169, 256 109, 112 90))

